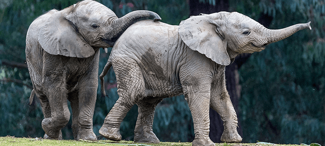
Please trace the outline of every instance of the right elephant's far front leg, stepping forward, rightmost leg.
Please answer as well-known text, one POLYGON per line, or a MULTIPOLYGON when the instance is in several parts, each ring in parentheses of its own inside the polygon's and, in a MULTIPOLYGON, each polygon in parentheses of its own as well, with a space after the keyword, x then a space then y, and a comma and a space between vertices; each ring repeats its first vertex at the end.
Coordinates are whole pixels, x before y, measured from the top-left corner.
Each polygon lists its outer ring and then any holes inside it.
POLYGON ((242 138, 237 132, 237 115, 226 89, 224 71, 221 73, 223 74, 212 83, 210 107, 219 113, 223 121, 224 130, 221 141, 239 143, 242 138))

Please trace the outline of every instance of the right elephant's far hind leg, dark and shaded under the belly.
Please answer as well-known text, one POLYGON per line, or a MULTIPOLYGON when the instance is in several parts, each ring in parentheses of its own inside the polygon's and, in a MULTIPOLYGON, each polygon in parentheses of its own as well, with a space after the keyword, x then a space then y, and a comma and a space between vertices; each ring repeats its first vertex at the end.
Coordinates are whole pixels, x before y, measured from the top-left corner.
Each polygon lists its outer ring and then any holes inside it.
POLYGON ((154 99, 154 97, 146 97, 137 102, 138 119, 134 129, 134 142, 136 143, 160 143, 159 139, 153 133, 152 124, 156 106, 162 99, 154 99))

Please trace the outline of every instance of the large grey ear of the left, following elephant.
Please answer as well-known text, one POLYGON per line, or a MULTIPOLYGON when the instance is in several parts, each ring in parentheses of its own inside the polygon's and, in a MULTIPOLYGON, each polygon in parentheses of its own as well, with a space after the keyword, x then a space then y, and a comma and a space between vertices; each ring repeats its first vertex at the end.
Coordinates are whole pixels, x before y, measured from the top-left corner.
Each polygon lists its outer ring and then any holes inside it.
POLYGON ((52 55, 85 58, 94 55, 94 49, 78 33, 75 25, 65 18, 69 8, 53 13, 38 32, 42 48, 52 55))

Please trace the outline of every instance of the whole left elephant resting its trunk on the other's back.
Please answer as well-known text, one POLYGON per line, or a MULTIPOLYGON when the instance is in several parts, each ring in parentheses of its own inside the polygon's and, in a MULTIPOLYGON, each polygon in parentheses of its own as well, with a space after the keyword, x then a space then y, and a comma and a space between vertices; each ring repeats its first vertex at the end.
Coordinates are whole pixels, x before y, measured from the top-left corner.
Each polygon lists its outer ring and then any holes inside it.
POLYGON ((64 10, 51 10, 30 25, 26 61, 33 96, 40 99, 44 138, 62 139, 61 128, 70 119, 74 139, 96 140, 92 117, 98 87, 99 48, 111 47, 139 19, 161 18, 150 11, 134 11, 122 18, 92 0, 64 10))

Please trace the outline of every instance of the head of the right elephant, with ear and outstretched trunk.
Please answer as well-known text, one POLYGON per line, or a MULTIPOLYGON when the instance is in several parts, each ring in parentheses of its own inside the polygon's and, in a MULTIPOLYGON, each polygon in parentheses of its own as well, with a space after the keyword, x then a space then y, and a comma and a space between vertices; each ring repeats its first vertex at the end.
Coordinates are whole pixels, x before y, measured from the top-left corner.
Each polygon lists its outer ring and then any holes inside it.
POLYGON ((218 64, 229 65, 242 53, 259 52, 265 46, 309 28, 310 22, 270 30, 237 12, 193 16, 181 21, 179 34, 184 43, 218 64))

